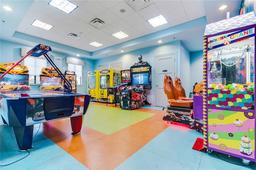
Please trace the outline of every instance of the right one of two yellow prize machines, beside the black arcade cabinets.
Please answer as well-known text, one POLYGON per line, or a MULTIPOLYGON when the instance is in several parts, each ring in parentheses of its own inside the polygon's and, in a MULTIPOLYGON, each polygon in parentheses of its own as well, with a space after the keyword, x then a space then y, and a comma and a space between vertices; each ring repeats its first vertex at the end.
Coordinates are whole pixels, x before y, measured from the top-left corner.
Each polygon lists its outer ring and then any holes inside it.
POLYGON ((120 70, 116 69, 104 69, 100 71, 100 102, 115 103, 115 97, 108 96, 108 87, 120 83, 120 72, 120 70))

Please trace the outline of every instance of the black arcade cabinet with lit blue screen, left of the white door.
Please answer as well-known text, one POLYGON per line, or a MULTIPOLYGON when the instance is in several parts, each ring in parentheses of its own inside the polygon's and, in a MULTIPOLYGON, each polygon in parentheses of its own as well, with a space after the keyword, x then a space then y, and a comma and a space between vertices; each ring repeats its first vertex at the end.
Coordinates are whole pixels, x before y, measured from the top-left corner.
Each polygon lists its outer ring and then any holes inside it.
MULTIPOLYGON (((147 62, 146 62, 147 63, 147 62)), ((121 89, 120 107, 122 109, 139 109, 142 105, 150 105, 146 101, 145 89, 151 89, 151 66, 135 64, 130 68, 131 86, 121 89)))

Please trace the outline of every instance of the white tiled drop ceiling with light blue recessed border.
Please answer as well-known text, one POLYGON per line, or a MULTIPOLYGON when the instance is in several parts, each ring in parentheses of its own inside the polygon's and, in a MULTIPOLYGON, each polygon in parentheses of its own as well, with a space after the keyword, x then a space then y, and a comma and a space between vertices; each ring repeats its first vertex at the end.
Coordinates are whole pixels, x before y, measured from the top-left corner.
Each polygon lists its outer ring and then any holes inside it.
POLYGON ((66 14, 50 0, 0 0, 0 38, 34 46, 50 45, 53 51, 101 59, 163 43, 181 40, 189 51, 202 50, 206 24, 237 16, 241 0, 70 0, 78 8, 66 14), (225 10, 218 10, 222 5, 225 10), (9 6, 12 11, 6 11, 9 6), (152 27, 147 20, 163 15, 167 24, 152 27), (49 31, 32 26, 37 19, 53 25, 49 31), (92 24, 96 20, 96 26, 92 24), (98 28, 97 28, 98 27, 98 28), (129 37, 112 36, 124 32, 129 37), (71 37, 68 34, 72 34, 71 37), (80 38, 72 38, 74 35, 80 38), (100 47, 91 42, 103 44, 100 47))

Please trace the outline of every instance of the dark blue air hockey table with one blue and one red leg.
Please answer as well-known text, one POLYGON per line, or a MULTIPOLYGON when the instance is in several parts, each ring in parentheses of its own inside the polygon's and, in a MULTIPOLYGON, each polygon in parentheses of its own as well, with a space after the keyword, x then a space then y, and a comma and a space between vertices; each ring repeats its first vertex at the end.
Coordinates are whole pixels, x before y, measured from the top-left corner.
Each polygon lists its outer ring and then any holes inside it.
POLYGON ((79 134, 90 95, 58 91, 0 92, 0 112, 12 127, 20 151, 30 150, 34 124, 70 117, 72 134, 79 134))

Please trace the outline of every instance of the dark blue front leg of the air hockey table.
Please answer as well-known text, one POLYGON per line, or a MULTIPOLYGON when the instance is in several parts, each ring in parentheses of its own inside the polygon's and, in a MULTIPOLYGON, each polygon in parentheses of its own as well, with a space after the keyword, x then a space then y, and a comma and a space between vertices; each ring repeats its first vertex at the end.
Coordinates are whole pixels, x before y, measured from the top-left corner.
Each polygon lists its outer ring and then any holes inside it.
POLYGON ((34 125, 27 127, 13 127, 19 151, 26 151, 34 148, 32 146, 34 125))

